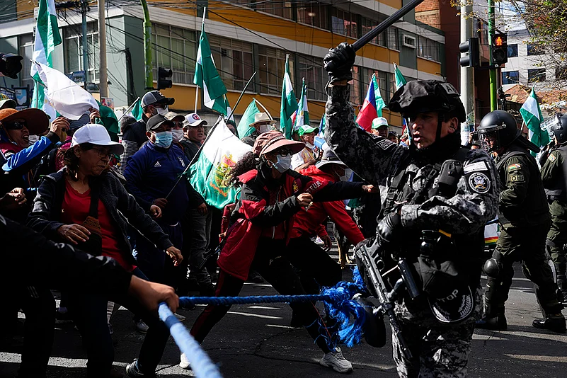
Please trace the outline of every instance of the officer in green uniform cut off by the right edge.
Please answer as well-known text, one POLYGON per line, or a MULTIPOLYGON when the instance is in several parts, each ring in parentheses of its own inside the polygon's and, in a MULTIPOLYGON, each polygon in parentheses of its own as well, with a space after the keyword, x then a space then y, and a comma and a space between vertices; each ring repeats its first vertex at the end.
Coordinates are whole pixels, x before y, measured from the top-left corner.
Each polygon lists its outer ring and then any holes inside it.
POLYGON ((556 122, 551 125, 554 134, 555 148, 550 151, 542 164, 542 181, 544 183, 549 212, 551 213, 551 229, 547 233, 547 248, 557 273, 558 299, 567 303, 567 115, 555 115, 556 122))

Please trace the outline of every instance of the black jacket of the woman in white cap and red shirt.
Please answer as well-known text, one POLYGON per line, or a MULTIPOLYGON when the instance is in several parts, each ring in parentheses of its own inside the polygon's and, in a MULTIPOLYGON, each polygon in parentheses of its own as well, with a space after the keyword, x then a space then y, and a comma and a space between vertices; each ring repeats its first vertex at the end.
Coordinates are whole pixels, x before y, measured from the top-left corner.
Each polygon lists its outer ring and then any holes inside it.
MULTIPOLYGON (((134 197, 127 193, 118 178, 112 173, 105 172, 93 179, 98 181, 98 185, 100 185, 100 200, 105 205, 110 219, 117 227, 117 231, 120 231, 119 242, 123 248, 126 248, 129 252, 132 251, 127 236, 127 222, 124 217, 128 219, 132 227, 141 231, 158 248, 165 250, 173 246, 161 227, 142 210, 142 207, 139 207, 134 197)), ((64 195, 64 170, 45 176, 40 188, 38 188, 38 195, 33 201, 33 210, 28 217, 28 226, 48 239, 62 241, 57 234, 57 229, 63 225, 61 222, 61 206, 64 195)), ((128 256, 131 255, 128 254, 128 256)))

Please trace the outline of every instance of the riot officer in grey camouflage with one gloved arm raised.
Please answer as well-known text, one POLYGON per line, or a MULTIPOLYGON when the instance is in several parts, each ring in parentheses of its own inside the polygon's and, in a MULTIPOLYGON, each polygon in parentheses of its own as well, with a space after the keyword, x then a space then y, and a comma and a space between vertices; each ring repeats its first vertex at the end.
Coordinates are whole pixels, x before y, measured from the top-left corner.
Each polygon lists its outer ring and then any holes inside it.
POLYGON ((423 288, 418 298, 406 293, 396 302, 396 319, 408 347, 393 335, 399 376, 466 377, 474 321, 481 310, 483 226, 496 216, 498 206, 496 168, 486 151, 460 147, 464 107, 455 88, 442 81, 408 81, 389 102, 389 109, 406 119, 409 149, 357 127, 348 84, 354 61, 355 52, 346 43, 323 60, 329 72, 325 136, 357 175, 386 185, 377 240, 412 263, 423 288), (433 256, 421 254, 424 231, 439 241, 433 256), (439 270, 429 275, 428 258, 454 268, 453 275, 435 275, 439 270), (456 294, 446 297, 447 292, 456 294), (440 309, 437 299, 457 306, 440 309), (461 304, 468 311, 459 311, 461 304))

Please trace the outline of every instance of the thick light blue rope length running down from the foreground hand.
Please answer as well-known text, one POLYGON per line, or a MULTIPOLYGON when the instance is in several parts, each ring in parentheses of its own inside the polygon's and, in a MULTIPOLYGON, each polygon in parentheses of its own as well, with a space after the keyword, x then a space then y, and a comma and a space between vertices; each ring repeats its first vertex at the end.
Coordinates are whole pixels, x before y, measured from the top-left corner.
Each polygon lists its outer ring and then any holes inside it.
POLYGON ((197 340, 190 335, 187 329, 173 315, 167 304, 159 304, 159 319, 166 323, 169 333, 179 346, 181 352, 190 362, 191 369, 197 378, 222 378, 219 368, 211 361, 207 353, 202 350, 197 340))

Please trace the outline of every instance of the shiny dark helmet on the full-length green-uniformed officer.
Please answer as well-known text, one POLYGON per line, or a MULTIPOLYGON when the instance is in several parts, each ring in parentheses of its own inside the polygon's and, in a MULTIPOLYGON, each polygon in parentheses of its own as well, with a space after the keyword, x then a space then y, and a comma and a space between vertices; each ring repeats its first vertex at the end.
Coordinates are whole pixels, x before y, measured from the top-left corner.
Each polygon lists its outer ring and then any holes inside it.
POLYGON ((486 151, 498 151, 498 149, 506 148, 512 142, 518 141, 527 149, 539 152, 539 147, 535 144, 523 137, 520 138, 522 132, 517 128, 515 118, 504 110, 493 110, 485 115, 476 132, 479 133, 481 147, 486 149, 486 151), (495 139, 492 146, 488 143, 489 137, 495 139))

